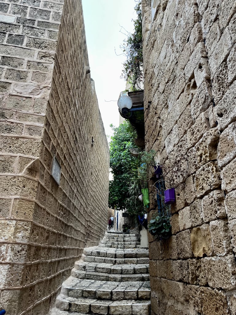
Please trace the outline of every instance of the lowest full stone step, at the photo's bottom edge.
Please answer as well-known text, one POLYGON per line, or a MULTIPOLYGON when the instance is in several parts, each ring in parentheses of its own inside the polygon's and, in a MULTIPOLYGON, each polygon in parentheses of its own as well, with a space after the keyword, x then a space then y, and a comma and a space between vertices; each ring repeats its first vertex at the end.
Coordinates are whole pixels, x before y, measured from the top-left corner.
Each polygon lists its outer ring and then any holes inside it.
POLYGON ((74 312, 76 315, 78 315, 78 313, 101 315, 149 315, 150 312, 150 301, 101 301, 97 299, 68 297, 62 294, 57 297, 55 306, 60 311, 68 311, 70 314, 71 312, 74 312))

